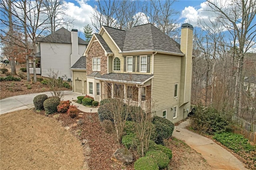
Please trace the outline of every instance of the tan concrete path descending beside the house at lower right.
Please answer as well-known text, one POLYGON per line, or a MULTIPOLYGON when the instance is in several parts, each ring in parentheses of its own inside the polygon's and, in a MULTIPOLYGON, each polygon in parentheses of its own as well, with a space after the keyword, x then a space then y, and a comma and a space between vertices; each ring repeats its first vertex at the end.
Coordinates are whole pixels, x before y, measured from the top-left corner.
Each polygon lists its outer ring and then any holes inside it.
POLYGON ((174 128, 172 136, 184 140, 196 152, 202 154, 214 170, 246 170, 244 164, 234 155, 216 144, 213 140, 191 132, 185 127, 188 121, 182 122, 174 128))

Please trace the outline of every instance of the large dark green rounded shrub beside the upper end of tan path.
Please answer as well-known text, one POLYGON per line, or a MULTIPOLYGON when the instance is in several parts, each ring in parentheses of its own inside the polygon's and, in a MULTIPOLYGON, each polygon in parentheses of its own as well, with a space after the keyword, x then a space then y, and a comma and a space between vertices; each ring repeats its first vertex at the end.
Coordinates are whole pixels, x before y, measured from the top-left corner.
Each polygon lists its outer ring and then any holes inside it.
POLYGON ((152 123, 156 127, 155 133, 157 134, 154 142, 156 144, 164 144, 164 139, 170 138, 174 130, 174 124, 168 119, 162 117, 154 116, 152 123))

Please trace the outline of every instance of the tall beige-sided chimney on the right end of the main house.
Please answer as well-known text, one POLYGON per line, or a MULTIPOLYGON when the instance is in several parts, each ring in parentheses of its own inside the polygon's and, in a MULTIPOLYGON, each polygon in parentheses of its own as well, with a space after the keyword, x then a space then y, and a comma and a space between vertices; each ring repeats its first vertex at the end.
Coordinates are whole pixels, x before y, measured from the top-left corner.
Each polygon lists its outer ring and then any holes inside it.
POLYGON ((188 23, 181 26, 180 51, 185 55, 181 61, 180 105, 190 102, 191 98, 193 29, 188 23))

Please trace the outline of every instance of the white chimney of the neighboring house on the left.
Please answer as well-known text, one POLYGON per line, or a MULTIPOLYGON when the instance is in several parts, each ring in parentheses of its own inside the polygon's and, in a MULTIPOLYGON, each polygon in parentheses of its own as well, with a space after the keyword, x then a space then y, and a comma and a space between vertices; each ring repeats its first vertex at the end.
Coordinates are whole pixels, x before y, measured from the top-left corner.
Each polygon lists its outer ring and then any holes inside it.
POLYGON ((72 53, 71 53, 71 65, 74 65, 76 61, 79 59, 79 54, 78 54, 78 30, 72 29, 71 30, 71 43, 72 43, 72 53))

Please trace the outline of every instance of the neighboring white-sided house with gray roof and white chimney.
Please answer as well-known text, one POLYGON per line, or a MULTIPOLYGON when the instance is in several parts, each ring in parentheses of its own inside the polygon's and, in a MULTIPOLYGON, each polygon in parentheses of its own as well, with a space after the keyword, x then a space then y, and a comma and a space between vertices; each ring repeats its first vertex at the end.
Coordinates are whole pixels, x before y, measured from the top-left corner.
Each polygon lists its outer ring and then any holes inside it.
POLYGON ((58 71, 58 77, 63 80, 71 80, 70 67, 84 54, 87 45, 87 42, 78 37, 78 30, 75 29, 70 32, 60 28, 44 38, 38 38, 37 73, 49 77, 50 70, 54 70, 58 71))

